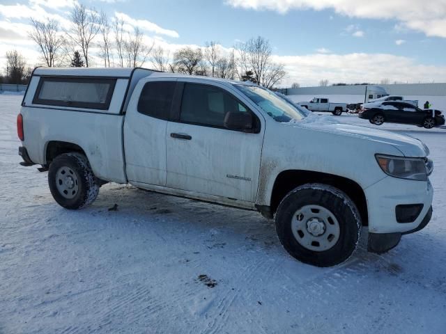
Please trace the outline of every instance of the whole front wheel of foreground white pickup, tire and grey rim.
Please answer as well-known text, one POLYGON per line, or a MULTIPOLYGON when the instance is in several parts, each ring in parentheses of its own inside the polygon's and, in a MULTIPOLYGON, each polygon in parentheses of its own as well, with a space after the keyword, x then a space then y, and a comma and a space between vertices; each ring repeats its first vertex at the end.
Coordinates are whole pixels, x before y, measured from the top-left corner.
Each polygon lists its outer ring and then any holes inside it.
POLYGON ((357 248, 362 228, 355 203, 326 184, 304 184, 286 195, 275 225, 285 250, 317 267, 346 261, 357 248))

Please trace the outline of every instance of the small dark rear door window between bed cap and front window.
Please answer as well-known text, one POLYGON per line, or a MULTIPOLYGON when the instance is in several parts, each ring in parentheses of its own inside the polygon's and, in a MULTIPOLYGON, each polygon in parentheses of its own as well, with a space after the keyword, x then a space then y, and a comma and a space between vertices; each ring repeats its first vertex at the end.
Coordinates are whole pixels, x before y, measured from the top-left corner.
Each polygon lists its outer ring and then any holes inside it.
POLYGON ((138 111, 151 117, 168 120, 175 86, 176 81, 154 81, 145 84, 139 97, 138 111))

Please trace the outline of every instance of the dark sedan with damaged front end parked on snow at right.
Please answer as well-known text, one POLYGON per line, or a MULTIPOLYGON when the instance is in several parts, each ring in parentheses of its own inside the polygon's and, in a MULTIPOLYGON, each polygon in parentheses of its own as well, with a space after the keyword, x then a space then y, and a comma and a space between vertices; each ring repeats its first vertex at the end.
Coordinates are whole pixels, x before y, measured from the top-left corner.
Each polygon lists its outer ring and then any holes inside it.
POLYGON ((423 110, 407 102, 376 102, 367 104, 362 109, 360 118, 369 120, 374 125, 384 122, 413 124, 431 129, 445 125, 445 116, 439 110, 423 110))

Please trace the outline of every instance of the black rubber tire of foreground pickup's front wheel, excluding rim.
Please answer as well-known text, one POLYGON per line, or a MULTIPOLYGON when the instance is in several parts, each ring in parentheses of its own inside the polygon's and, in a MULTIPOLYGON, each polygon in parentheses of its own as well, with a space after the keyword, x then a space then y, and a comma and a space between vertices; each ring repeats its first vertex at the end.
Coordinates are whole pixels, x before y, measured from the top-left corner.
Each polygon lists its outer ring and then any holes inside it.
MULTIPOLYGON (((305 217, 303 218, 305 220, 305 217)), ((312 219, 308 219, 305 225, 308 226, 312 219)), ((356 250, 362 230, 360 214, 355 203, 343 191, 326 184, 304 184, 288 193, 277 208, 275 225, 285 250, 295 259, 317 267, 330 267, 346 261, 356 250), (338 239, 327 250, 317 251, 302 246, 302 242, 295 237, 295 234, 301 231, 292 230, 293 220, 299 219, 295 214, 303 207, 312 205, 323 207, 337 219, 338 239)), ((326 235, 328 230, 323 231, 320 237, 330 238, 331 234, 326 235)))

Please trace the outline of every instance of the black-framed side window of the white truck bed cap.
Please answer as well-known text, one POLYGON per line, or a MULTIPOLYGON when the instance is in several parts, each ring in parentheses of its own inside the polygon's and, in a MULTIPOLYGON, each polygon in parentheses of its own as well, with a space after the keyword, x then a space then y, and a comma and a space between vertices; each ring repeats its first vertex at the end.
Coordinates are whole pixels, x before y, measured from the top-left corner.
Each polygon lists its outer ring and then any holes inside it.
POLYGON ((107 110, 116 79, 41 77, 33 104, 107 110))

